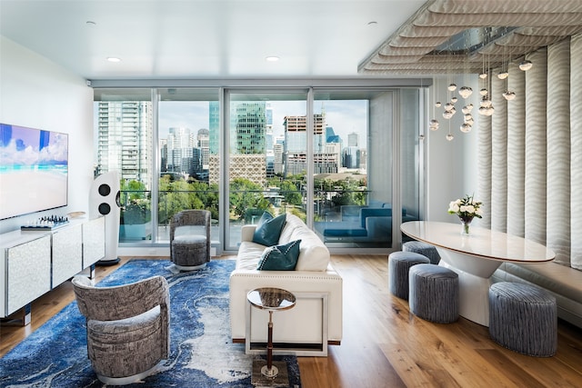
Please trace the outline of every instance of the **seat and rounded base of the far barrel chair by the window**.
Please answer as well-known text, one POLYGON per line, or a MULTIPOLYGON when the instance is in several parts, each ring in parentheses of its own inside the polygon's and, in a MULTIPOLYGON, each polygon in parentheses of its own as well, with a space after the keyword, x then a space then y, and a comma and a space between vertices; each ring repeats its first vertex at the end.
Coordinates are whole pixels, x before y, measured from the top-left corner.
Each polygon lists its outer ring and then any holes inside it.
POLYGON ((172 241, 172 261, 181 271, 192 271, 206 266, 206 236, 184 234, 172 241))

